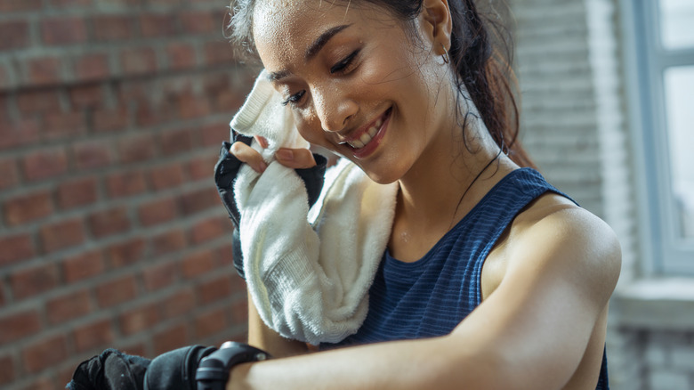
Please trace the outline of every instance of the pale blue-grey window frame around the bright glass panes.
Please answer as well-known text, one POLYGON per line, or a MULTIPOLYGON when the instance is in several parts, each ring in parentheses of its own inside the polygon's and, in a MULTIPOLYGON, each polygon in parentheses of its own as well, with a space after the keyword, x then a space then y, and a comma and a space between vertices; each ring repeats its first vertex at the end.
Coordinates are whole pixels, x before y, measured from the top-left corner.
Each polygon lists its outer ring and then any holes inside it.
POLYGON ((680 239, 675 228, 665 101, 665 70, 694 66, 694 45, 676 50, 662 45, 659 0, 622 0, 620 5, 639 241, 646 260, 642 272, 694 275, 694 240, 680 239))

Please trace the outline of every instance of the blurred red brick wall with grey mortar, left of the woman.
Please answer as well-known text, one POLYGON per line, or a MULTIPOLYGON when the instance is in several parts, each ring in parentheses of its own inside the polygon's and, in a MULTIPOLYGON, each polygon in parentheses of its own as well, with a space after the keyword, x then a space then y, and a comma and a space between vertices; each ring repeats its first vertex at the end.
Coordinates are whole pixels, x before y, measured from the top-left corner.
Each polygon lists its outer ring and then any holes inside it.
POLYGON ((0 2, 0 387, 245 337, 212 181, 253 78, 227 5, 0 2))

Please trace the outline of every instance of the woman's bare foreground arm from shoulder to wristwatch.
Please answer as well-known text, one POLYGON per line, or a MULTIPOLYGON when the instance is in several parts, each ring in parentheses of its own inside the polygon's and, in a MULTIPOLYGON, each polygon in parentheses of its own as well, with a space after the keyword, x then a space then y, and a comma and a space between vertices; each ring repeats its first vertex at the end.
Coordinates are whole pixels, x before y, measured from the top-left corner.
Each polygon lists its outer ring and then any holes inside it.
POLYGON ((499 287, 448 336, 244 364, 227 388, 565 386, 617 282, 618 244, 579 209, 548 215, 523 236, 499 287))

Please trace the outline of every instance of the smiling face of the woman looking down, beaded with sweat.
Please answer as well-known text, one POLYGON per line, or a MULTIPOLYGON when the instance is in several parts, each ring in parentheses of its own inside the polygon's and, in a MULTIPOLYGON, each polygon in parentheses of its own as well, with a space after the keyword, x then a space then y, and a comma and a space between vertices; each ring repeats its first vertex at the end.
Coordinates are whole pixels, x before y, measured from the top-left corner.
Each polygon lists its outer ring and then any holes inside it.
POLYGON ((300 134, 378 183, 425 164, 450 129, 446 67, 431 26, 415 21, 419 37, 371 4, 261 0, 254 9, 256 49, 300 134))

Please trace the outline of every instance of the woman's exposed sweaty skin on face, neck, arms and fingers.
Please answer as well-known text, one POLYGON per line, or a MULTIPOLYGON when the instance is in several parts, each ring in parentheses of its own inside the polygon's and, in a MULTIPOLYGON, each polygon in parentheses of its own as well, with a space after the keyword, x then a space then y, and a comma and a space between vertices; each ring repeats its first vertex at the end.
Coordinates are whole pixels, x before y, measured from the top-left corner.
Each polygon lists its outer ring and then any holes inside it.
MULTIPOLYGON (((452 69, 441 60, 450 47, 446 0, 425 0, 412 26, 366 2, 346 4, 259 0, 256 49, 304 138, 376 182, 399 183, 389 249, 414 262, 518 167, 503 154, 488 166, 498 148, 480 120, 463 143, 456 110, 468 107, 456 106, 452 69), (350 146, 379 119, 363 150, 350 146)), ((235 144, 232 152, 262 171, 254 150, 235 144)), ((309 150, 276 157, 287 167, 315 164, 309 150)), ((240 365, 227 388, 592 390, 619 267, 609 226, 546 194, 496 242, 482 269, 482 304, 449 335, 306 354, 249 303, 250 343, 293 357, 240 365)))

